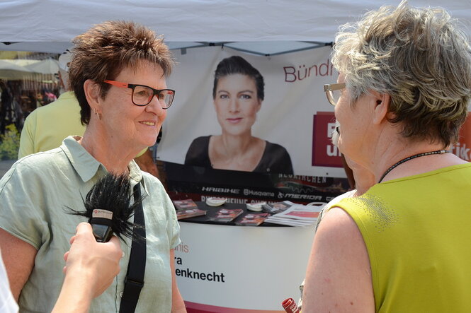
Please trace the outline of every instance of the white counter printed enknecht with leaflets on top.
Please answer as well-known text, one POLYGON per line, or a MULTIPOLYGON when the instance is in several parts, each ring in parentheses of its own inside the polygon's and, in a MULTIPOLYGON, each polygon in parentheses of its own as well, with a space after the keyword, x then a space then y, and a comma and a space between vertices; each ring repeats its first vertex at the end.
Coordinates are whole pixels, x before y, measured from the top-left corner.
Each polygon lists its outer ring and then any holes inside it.
POLYGON ((179 220, 176 279, 188 312, 284 312, 280 303, 300 296, 314 225, 271 223, 239 226, 245 204, 212 207, 195 202, 206 215, 179 220), (235 220, 211 218, 221 208, 242 209, 235 220))

